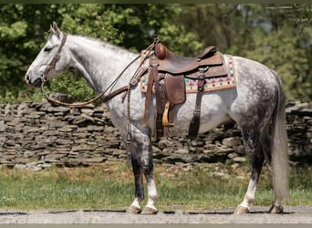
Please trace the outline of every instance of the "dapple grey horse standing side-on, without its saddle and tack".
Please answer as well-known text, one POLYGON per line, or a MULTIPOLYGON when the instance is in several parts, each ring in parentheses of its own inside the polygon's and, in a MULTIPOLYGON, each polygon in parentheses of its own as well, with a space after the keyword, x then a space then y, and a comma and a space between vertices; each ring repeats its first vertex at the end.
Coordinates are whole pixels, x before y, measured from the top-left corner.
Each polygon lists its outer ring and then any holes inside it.
MULTIPOLYGON (((46 45, 26 72, 26 83, 40 87, 43 80, 56 77, 71 69, 78 70, 88 84, 101 92, 111 85, 116 76, 137 54, 86 36, 67 35, 56 23, 46 45), (57 53, 59 52, 59 53, 57 53), (50 65, 55 58, 54 64, 50 65), (47 67, 48 68, 47 70, 47 67)), ((224 55, 228 65, 228 56, 224 55)), ((264 65, 243 57, 233 57, 236 87, 205 92, 202 101, 199 133, 233 119, 242 131, 244 149, 249 155, 251 176, 244 200, 235 213, 249 212, 249 205, 255 201, 255 191, 265 161, 271 164, 275 199, 269 212, 283 212, 282 200, 288 195, 287 145, 285 128, 285 95, 276 72, 264 65)), ((113 84, 114 88, 127 86, 139 62, 134 62, 124 76, 113 84)), ((69 86, 69 85, 68 85, 69 86)), ((174 128, 171 135, 187 135, 194 109, 196 94, 188 94, 186 102, 173 109, 174 128), (186 124, 187 123, 187 124, 186 124)), ((107 101, 113 124, 120 130, 126 141, 129 128, 127 123, 127 102, 122 94, 107 101)), ((135 179, 135 198, 127 212, 155 213, 157 199, 153 179, 151 136, 155 128, 155 98, 151 98, 149 119, 142 124, 145 94, 140 87, 130 91, 130 154, 135 179), (148 202, 141 210, 144 198, 143 174, 148 187, 148 202)))

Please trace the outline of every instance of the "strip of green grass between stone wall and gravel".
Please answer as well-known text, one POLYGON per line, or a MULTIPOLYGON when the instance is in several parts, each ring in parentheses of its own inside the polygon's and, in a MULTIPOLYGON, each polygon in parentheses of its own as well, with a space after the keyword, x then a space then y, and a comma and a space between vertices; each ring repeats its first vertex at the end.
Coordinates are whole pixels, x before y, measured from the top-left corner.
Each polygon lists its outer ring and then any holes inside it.
MULTIPOLYGON (((244 198, 249 168, 224 164, 155 165, 159 210, 201 210, 234 207, 244 198)), ((88 168, 51 168, 48 171, 0 169, 1 209, 125 210, 133 200, 130 169, 124 162, 88 168)), ((288 205, 312 205, 312 167, 292 168, 288 205)), ((269 207, 271 177, 265 167, 255 205, 269 207)))

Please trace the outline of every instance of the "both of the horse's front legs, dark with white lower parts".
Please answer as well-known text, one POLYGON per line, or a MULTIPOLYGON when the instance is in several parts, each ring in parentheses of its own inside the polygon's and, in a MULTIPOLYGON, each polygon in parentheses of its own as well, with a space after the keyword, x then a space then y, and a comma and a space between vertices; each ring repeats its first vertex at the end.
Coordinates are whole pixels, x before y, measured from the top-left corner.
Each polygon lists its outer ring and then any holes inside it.
POLYGON ((141 213, 154 214, 157 212, 154 202, 157 190, 153 179, 153 161, 150 131, 139 130, 132 126, 131 130, 131 164, 135 180, 135 199, 127 212, 140 213, 140 202, 144 199, 142 174, 144 173, 148 187, 148 202, 141 213))

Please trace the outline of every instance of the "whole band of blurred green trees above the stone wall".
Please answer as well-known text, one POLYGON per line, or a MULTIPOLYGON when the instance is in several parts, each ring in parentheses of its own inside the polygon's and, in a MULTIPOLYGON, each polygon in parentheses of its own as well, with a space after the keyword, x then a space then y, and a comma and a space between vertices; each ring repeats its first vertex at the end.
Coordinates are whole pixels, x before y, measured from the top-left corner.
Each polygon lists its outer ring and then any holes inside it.
MULTIPOLYGON (((69 34, 92 36, 135 52, 151 44, 154 34, 188 57, 216 45, 223 53, 255 59, 275 69, 284 82, 287 100, 311 100, 311 7, 0 5, 0 101, 33 96, 34 89, 26 87, 24 75, 45 43, 52 21, 69 34)), ((66 74, 54 79, 49 88, 77 99, 92 96, 87 82, 77 77, 66 74)))

